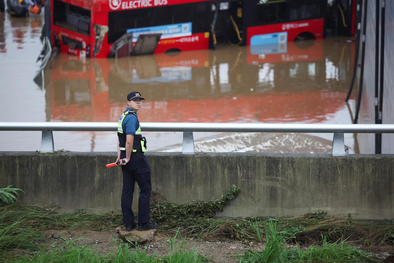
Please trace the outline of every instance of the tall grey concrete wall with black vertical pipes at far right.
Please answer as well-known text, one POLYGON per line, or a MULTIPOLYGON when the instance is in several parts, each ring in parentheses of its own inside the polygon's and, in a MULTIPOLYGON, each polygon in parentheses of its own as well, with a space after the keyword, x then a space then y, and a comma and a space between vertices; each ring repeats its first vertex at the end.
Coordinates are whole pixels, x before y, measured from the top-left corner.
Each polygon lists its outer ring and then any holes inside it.
MULTIPOLYGON (((364 4, 365 0, 362 2, 364 4)), ((375 123, 375 7, 376 4, 381 6, 381 2, 382 0, 369 0, 367 6, 364 84, 359 123, 375 123)), ((386 0, 385 14, 384 91, 382 112, 383 123, 394 123, 394 115, 392 114, 392 112, 394 112, 394 75, 392 74, 392 72, 394 72, 394 65, 392 63, 394 61, 394 34, 392 34, 394 28, 394 1, 386 0)), ((364 15, 362 17, 364 18, 364 15)), ((362 24, 363 22, 361 22, 361 25, 362 24)), ((361 63, 361 47, 359 63, 361 63)), ((358 68, 357 74, 357 79, 359 79, 360 68, 358 68)), ((357 82, 355 82, 355 88, 356 90, 359 88, 357 82)), ((356 95, 356 92, 354 95, 356 95)), ((375 134, 358 134, 357 139, 363 142, 360 144, 361 153, 375 153, 375 134)), ((394 134, 382 135, 382 153, 394 153, 394 134)))

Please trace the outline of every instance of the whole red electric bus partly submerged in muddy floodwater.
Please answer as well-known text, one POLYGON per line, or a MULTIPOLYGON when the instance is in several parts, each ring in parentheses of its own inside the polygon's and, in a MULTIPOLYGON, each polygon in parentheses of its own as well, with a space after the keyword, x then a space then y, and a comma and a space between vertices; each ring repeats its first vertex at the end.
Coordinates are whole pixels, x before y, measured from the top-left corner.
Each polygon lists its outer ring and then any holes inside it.
POLYGON ((151 53, 321 39, 327 7, 327 0, 50 1, 52 45, 88 58, 115 56, 119 41, 132 54, 150 34, 157 36, 151 53))

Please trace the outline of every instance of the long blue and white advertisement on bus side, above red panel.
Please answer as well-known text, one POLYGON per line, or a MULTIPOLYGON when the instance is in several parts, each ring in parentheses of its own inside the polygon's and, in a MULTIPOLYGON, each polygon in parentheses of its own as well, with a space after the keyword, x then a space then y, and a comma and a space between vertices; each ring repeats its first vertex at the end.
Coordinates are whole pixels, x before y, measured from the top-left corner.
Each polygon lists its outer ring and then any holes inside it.
POLYGON ((133 33, 133 42, 136 42, 140 34, 162 34, 160 39, 187 37, 191 35, 191 22, 170 24, 164 26, 150 26, 144 28, 133 28, 126 30, 133 33))

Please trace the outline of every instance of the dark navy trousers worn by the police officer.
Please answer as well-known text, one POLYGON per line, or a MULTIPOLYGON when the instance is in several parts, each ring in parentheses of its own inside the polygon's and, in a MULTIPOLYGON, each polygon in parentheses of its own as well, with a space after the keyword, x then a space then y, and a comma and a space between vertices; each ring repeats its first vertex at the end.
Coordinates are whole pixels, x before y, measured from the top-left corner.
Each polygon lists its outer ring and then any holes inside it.
MULTIPOLYGON (((126 153, 121 151, 121 158, 125 158, 126 153)), ((131 205, 133 203, 134 186, 137 182, 140 192, 138 199, 138 223, 148 223, 151 218, 149 203, 151 199, 151 168, 148 160, 143 153, 132 153, 131 160, 128 164, 121 166, 123 172, 123 190, 122 190, 122 213, 123 222, 132 224, 134 222, 134 213, 131 205)))

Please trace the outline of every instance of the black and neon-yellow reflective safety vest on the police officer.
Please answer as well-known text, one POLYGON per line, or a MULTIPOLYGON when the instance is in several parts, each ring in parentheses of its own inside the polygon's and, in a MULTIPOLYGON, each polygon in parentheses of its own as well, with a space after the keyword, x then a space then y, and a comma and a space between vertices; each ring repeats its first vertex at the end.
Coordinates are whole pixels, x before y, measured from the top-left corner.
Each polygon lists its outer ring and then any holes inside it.
MULTIPOLYGON (((133 114, 137 118, 137 114, 134 111, 125 111, 118 120, 118 138, 119 138, 119 148, 121 151, 126 151, 126 132, 123 131, 122 123, 128 114, 133 114)), ((138 121, 138 118, 137 118, 138 121)), ((145 153, 147 151, 147 140, 141 135, 141 125, 138 121, 138 129, 136 134, 134 134, 133 142, 133 153, 145 153)))

